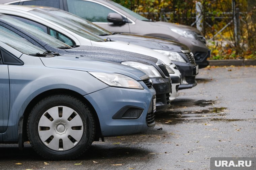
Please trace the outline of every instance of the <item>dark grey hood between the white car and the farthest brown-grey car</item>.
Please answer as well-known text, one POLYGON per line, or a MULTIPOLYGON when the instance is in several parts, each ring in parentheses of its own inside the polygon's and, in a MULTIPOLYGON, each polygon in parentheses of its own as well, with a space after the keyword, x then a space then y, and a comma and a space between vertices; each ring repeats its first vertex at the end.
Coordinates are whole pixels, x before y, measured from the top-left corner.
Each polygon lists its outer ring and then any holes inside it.
POLYGON ((105 37, 108 37, 111 40, 126 41, 131 44, 136 44, 150 49, 167 50, 174 52, 181 52, 181 50, 189 50, 189 48, 185 44, 157 37, 140 36, 126 33, 109 35, 105 37))

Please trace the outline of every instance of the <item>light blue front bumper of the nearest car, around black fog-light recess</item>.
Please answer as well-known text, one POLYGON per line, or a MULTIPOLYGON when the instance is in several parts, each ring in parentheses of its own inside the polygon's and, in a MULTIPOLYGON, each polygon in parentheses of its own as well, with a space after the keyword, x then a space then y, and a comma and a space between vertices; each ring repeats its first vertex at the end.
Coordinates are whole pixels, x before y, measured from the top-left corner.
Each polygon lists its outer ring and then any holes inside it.
POLYGON ((156 92, 154 88, 148 89, 142 81, 141 84, 145 89, 108 87, 84 96, 97 113, 100 137, 138 133, 155 126, 154 120, 151 119, 148 125, 146 119, 149 115, 151 118, 154 116, 152 101, 156 92), (113 116, 126 106, 140 108, 143 112, 137 119, 113 119, 113 116))

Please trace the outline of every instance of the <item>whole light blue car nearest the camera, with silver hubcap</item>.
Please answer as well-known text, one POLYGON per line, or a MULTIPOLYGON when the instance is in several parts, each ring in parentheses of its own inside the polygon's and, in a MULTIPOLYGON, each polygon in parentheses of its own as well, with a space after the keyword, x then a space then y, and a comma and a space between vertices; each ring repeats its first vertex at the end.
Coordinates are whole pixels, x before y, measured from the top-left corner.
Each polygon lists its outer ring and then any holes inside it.
POLYGON ((29 140, 44 158, 65 160, 99 137, 155 126, 156 93, 138 69, 45 52, 0 31, 0 71, 0 143, 29 140))

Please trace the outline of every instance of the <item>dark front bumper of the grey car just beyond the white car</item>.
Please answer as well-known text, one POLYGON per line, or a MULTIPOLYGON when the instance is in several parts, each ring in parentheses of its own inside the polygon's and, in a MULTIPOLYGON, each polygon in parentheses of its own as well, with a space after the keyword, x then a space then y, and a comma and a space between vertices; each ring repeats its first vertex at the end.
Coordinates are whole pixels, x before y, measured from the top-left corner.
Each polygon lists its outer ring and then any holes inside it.
POLYGON ((172 61, 181 72, 182 82, 179 90, 190 89, 197 85, 196 83, 196 65, 192 63, 183 63, 178 61, 172 61))

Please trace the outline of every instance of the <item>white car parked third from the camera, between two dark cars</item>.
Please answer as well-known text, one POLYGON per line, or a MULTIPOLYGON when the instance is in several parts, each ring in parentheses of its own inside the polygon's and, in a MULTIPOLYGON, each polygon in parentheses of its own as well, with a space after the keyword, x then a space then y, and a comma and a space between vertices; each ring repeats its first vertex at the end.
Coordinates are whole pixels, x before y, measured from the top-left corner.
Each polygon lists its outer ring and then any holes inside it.
MULTIPOLYGON (((51 13, 47 13, 43 10, 28 6, 0 5, 0 13, 12 15, 16 19, 33 24, 41 31, 44 31, 70 46, 87 45, 105 47, 155 57, 161 60, 165 65, 169 66, 170 69, 168 69, 168 71, 171 76, 174 75, 180 77, 180 73, 171 66, 171 60, 159 52, 127 42, 103 39, 100 36, 81 29, 65 19, 52 15, 51 13)), ((172 94, 170 95, 170 100, 174 100, 177 97, 176 88, 172 88, 172 94)))

